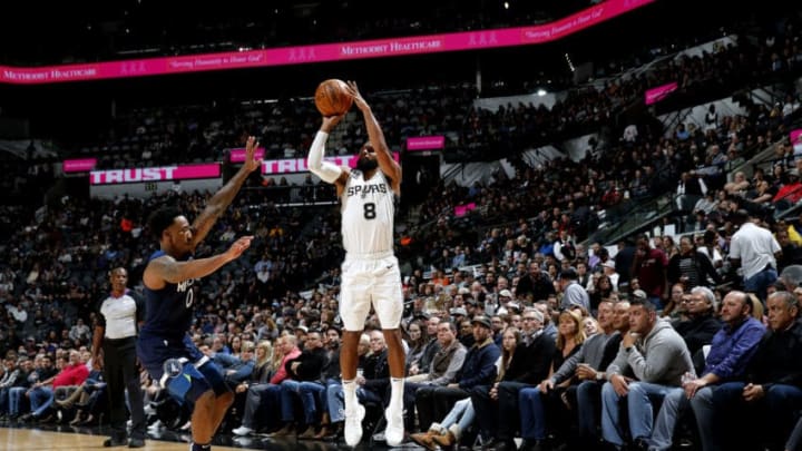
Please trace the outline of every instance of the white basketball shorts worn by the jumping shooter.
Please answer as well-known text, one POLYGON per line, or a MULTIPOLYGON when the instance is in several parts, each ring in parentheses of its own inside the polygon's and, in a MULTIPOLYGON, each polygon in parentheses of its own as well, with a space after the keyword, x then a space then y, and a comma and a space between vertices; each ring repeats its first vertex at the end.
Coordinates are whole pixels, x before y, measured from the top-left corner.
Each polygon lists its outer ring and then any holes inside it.
POLYGON ((361 331, 370 307, 382 329, 398 329, 403 315, 401 269, 392 253, 374 258, 345 256, 340 285, 340 317, 346 331, 361 331))

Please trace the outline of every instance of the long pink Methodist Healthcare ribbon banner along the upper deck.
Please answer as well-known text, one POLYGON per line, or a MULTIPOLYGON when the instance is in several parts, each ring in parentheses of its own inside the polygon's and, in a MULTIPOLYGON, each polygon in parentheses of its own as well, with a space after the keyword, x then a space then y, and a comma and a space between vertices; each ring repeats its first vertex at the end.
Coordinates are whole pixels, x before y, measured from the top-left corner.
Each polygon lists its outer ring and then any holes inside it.
POLYGON ((0 66, 0 82, 38 85, 529 46, 565 38, 654 1, 607 0, 566 18, 534 27, 85 65, 36 68, 0 66))

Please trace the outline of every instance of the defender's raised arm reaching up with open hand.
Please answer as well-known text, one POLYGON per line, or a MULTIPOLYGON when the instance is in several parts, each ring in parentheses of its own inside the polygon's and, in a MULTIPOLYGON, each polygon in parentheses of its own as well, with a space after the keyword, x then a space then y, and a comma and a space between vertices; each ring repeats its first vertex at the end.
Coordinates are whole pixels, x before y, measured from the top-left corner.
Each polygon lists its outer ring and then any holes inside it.
POLYGON ((245 163, 237 173, 226 183, 206 204, 206 208, 193 223, 193 244, 200 243, 212 229, 218 217, 228 208, 234 196, 239 192, 247 176, 262 166, 262 160, 254 157, 258 141, 250 136, 245 144, 245 163))

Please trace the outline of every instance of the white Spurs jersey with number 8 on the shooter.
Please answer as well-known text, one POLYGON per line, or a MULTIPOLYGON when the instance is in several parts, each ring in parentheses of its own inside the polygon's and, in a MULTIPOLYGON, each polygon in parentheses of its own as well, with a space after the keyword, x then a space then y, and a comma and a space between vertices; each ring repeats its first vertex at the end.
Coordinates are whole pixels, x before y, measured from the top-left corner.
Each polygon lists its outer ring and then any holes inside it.
POLYGON ((364 179, 352 169, 342 193, 342 236, 345 252, 369 255, 393 249, 395 194, 384 173, 376 170, 364 179))

